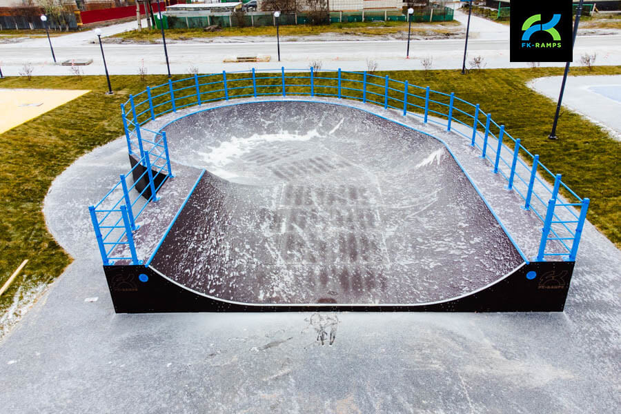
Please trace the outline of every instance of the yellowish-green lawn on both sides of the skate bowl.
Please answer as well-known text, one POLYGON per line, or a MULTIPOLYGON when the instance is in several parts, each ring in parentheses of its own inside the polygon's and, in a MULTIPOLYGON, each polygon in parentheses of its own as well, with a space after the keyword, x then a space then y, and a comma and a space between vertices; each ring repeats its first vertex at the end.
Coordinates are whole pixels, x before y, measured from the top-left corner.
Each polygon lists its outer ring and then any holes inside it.
MULTIPOLYGON (((602 66, 572 75, 619 75, 621 66, 602 66)), ((562 68, 482 70, 460 75, 457 70, 378 72, 392 79, 455 92, 480 103, 515 138, 581 197, 591 198, 589 220, 617 246, 621 245, 621 143, 572 112, 563 112, 558 141, 547 139, 555 103, 526 87, 535 77, 562 75, 562 68)), ((231 75, 230 79, 240 75, 231 75)), ((246 76, 246 75, 243 75, 246 76)), ((186 76, 179 76, 183 78, 186 76)), ((115 95, 106 96, 104 77, 22 77, 0 80, 0 88, 90 89, 92 92, 0 135, 0 285, 23 259, 26 282, 19 277, 0 298, 0 313, 12 303, 19 286, 30 288, 60 275, 71 258, 52 239, 41 213, 52 180, 75 159, 123 133, 119 104, 147 85, 164 83, 164 76, 112 77, 115 95)), ((275 79, 275 83, 279 80, 275 79)), ((220 86, 217 86, 219 88, 220 86)), ((214 86, 216 88, 216 86, 214 86)), ((250 89, 238 90, 238 94, 250 89)), ((291 91, 290 91, 291 92, 291 91)), ((102 189, 102 194, 104 190, 102 189)), ((83 206, 87 208, 87 206, 83 206)))

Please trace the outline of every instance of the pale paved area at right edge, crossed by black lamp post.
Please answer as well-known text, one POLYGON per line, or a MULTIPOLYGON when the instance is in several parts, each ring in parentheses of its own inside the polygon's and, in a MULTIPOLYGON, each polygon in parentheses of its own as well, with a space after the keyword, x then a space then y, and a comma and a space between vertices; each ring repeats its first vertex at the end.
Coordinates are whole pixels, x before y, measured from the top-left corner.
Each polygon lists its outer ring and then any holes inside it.
MULTIPOLYGON (((543 77, 529 83, 537 92, 558 101, 562 77, 543 77)), ((570 76, 563 106, 610 130, 621 141, 621 75, 570 76)))

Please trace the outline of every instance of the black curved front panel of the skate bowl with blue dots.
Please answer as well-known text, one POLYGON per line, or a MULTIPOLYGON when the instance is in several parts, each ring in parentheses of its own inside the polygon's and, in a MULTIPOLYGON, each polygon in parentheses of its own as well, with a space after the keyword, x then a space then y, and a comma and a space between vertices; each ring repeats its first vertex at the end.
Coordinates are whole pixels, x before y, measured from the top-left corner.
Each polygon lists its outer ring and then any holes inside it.
POLYGON ((481 290, 431 304, 245 304, 208 297, 144 266, 104 266, 117 313, 428 311, 561 312, 574 262, 532 262, 481 290))

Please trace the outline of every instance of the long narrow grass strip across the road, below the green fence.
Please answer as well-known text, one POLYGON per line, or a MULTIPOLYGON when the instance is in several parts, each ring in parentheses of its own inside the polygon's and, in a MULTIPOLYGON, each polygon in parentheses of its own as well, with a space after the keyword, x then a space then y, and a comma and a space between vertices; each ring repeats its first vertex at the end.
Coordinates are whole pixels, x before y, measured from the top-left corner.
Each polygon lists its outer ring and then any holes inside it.
MULTIPOLYGON (((380 36, 384 34, 396 34, 407 32, 408 23, 404 21, 377 21, 357 23, 332 23, 329 25, 312 26, 306 24, 280 26, 281 36, 310 36, 313 34, 336 33, 336 34, 359 34, 365 36, 380 36)), ((450 34, 460 31, 460 23, 457 21, 437 21, 433 23, 412 23, 412 34, 450 34)), ((231 37, 231 36, 276 36, 276 28, 272 26, 260 26, 256 28, 222 28, 217 32, 206 32, 202 28, 168 29, 166 39, 184 40, 196 37, 231 37)), ((115 34, 125 40, 156 41, 161 39, 159 30, 130 30, 115 34)))

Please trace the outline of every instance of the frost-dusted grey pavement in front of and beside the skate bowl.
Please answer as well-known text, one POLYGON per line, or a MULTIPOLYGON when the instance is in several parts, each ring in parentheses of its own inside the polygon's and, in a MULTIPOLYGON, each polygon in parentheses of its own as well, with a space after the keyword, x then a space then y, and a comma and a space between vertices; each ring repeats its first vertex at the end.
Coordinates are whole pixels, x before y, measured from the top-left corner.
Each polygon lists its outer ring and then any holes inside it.
MULTIPOLYGON (((489 174, 465 139, 369 108, 489 174)), ((589 223, 564 313, 116 315, 86 206, 127 168, 119 138, 52 184, 46 220, 75 262, 2 339, 2 413, 618 411, 621 252, 589 223)))

